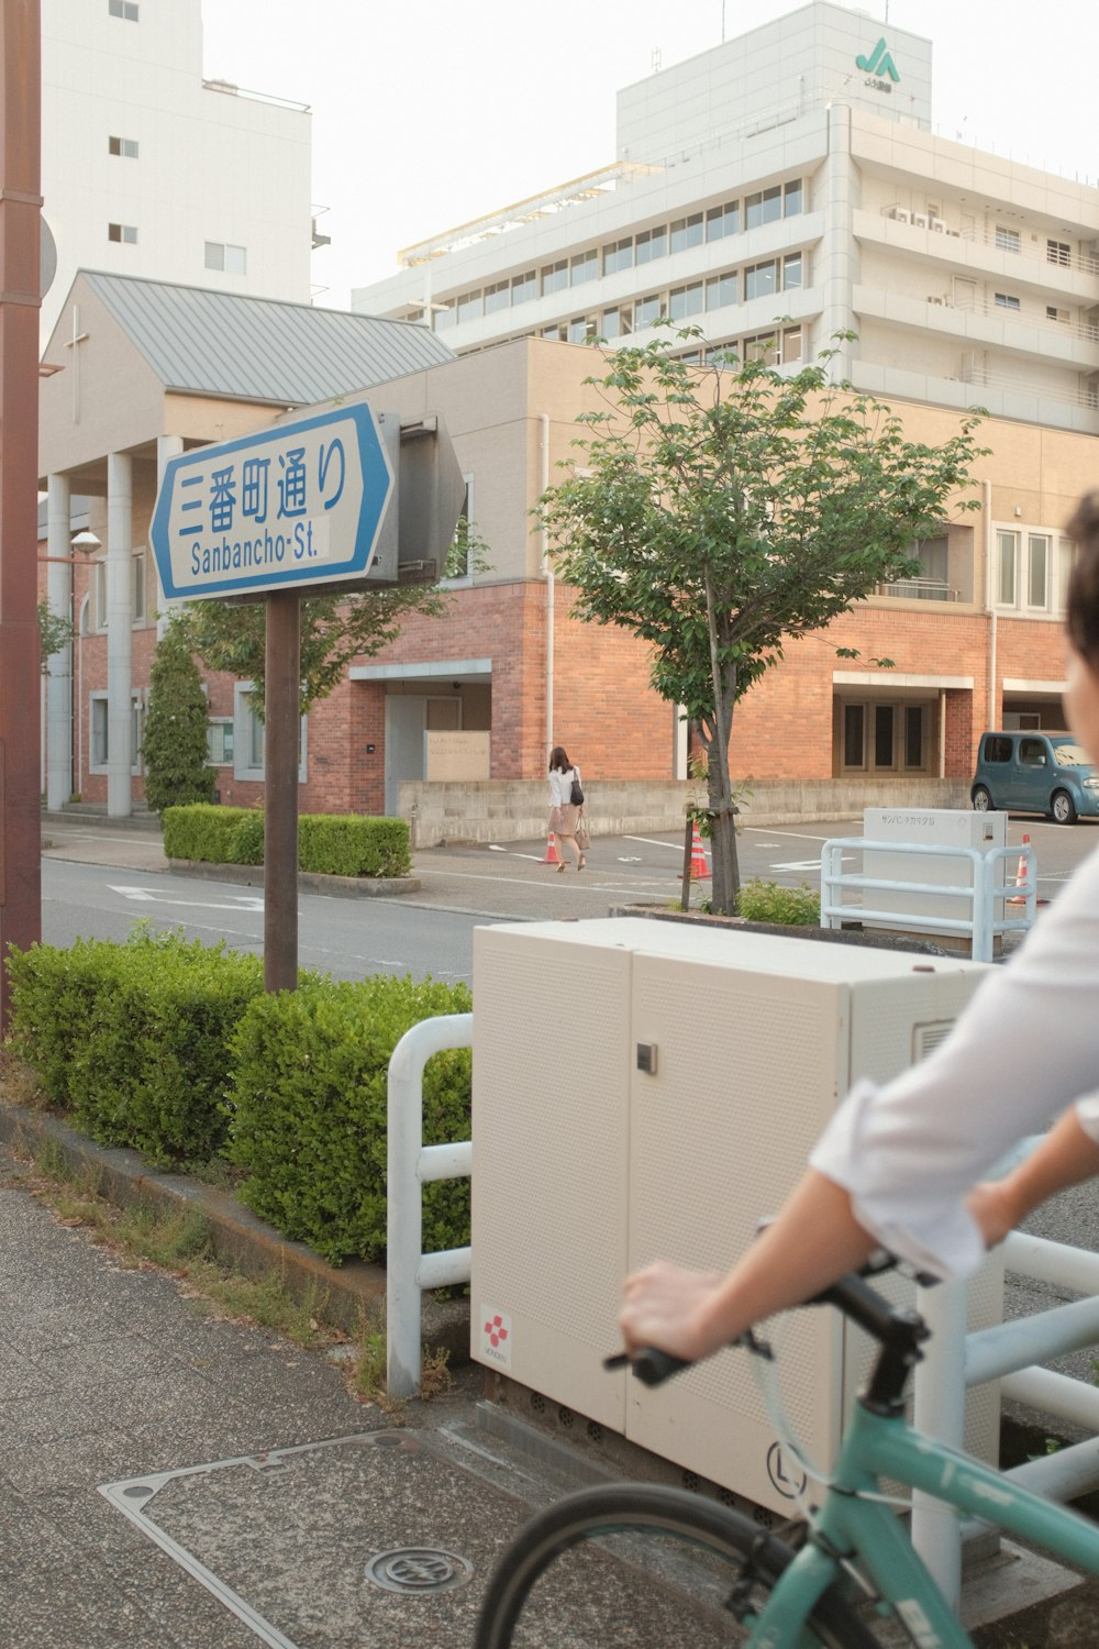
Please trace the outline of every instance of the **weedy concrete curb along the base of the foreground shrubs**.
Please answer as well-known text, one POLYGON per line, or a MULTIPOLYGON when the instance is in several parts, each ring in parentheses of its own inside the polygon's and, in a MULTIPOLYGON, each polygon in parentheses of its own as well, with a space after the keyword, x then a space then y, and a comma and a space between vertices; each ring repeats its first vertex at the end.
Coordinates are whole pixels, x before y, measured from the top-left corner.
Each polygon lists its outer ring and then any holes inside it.
MULTIPOLYGON (((43 1144, 56 1146, 72 1172, 89 1172, 99 1194, 117 1207, 145 1202, 161 1209, 198 1209, 209 1220, 211 1248, 244 1276, 278 1271, 295 1299, 320 1298, 320 1314, 354 1334, 367 1321, 386 1318, 386 1270, 361 1260, 334 1266, 302 1242, 280 1237, 236 1197, 185 1174, 158 1174, 137 1151, 96 1144, 59 1116, 0 1102, 0 1139, 16 1153, 35 1156, 43 1144)), ((445 1346, 456 1367, 470 1362, 470 1301, 437 1301, 422 1296, 423 1347, 445 1346)))

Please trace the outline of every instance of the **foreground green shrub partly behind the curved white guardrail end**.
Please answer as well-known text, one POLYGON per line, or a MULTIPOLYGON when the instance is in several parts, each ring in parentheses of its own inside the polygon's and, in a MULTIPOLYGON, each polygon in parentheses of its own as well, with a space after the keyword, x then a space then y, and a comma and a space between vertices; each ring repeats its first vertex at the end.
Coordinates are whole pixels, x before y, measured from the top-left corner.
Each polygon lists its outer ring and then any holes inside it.
MULTIPOLYGON (((239 1196, 287 1237, 339 1263, 386 1247, 389 1059, 420 1019, 470 1011, 465 986, 432 980, 308 976, 257 998, 232 1037, 227 1154, 247 1169, 239 1196)), ((470 1138, 470 1052, 423 1073, 423 1139, 470 1138)), ((423 1187, 423 1245, 470 1240, 470 1182, 423 1187)))

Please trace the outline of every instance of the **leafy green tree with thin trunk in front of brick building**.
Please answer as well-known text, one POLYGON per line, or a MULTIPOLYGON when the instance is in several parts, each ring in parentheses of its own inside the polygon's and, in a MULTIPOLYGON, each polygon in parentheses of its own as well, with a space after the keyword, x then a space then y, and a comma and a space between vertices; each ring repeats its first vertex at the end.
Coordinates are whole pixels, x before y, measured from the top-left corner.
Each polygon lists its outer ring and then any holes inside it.
MULTIPOLYGON (((621 625, 652 648, 651 681, 684 706, 707 755, 713 909, 740 889, 730 737, 738 699, 809 635, 918 572, 911 546, 939 529, 982 455, 961 419, 941 447, 830 384, 835 348, 794 376, 763 359, 687 364, 695 330, 606 356, 588 379, 601 406, 572 477, 535 506, 578 618, 621 625)), ((850 335, 837 335, 837 341, 850 335)), ((888 663, 878 660, 877 663, 888 663)))

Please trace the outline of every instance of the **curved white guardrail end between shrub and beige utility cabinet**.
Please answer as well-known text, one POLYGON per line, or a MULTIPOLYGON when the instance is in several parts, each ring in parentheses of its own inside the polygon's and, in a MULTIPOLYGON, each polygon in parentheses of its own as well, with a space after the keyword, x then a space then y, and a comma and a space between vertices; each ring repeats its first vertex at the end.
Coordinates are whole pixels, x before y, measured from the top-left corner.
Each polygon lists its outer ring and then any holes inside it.
POLYGON ((422 1019, 389 1060, 386 1172, 386 1390, 412 1397, 420 1387, 420 1294, 470 1281, 470 1248, 423 1253, 420 1187, 461 1179, 473 1167, 470 1139, 423 1144, 423 1067, 432 1054, 473 1045, 473 1014, 422 1019))

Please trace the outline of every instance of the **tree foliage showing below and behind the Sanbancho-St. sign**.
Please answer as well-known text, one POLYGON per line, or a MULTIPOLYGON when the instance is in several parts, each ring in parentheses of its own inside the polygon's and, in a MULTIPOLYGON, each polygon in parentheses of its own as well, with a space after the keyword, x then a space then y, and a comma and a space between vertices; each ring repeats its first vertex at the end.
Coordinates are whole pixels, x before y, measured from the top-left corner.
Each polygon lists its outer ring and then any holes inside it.
MULTIPOLYGON (((443 577, 458 577, 486 562, 486 546, 465 518, 458 523, 443 577)), ((448 595, 438 584, 400 584, 353 595, 302 599, 302 714, 343 681, 356 658, 372 658, 395 641, 409 613, 440 617, 448 595)), ((188 602, 191 648, 208 669, 224 669, 254 683, 252 709, 264 719, 265 604, 188 602)))

